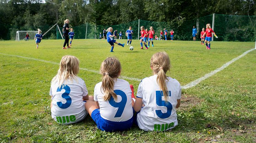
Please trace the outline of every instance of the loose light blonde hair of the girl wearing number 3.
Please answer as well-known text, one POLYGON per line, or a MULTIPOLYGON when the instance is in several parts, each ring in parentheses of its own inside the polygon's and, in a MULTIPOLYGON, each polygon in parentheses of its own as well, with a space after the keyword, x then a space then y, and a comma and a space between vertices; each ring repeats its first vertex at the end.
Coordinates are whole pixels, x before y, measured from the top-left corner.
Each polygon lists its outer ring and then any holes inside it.
POLYGON ((77 80, 76 76, 78 73, 79 59, 71 55, 63 56, 60 61, 58 73, 54 76, 53 80, 51 80, 51 84, 55 84, 57 82, 59 87, 61 87, 62 83, 66 81, 64 84, 65 86, 68 84, 68 80, 77 80))

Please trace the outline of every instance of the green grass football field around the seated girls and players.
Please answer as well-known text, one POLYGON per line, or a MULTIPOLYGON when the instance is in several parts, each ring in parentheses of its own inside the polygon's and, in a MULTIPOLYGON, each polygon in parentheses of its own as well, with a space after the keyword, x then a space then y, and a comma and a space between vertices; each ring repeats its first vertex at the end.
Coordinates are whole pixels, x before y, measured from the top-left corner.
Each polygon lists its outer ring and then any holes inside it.
POLYGON ((133 40, 133 51, 116 45, 114 53, 106 40, 74 39, 71 49, 61 49, 62 44, 63 40, 43 39, 36 49, 33 40, 0 41, 0 142, 256 142, 256 50, 183 89, 179 125, 172 131, 145 132, 133 126, 124 132, 102 132, 90 116, 59 125, 49 108, 50 81, 63 55, 79 58, 78 76, 93 95, 101 81, 94 71, 109 56, 119 58, 121 75, 130 77, 126 80, 137 91, 139 79, 152 75, 150 58, 158 51, 170 56, 172 68, 167 74, 186 85, 254 48, 255 42, 213 41, 207 50, 199 41, 154 41, 153 48, 141 50, 133 40))

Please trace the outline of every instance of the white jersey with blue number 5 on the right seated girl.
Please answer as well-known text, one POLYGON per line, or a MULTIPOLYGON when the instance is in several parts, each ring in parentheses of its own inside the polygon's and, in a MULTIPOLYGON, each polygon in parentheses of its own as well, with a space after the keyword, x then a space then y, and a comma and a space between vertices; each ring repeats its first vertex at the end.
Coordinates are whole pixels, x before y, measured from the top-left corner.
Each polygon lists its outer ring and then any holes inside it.
POLYGON ((156 81, 157 75, 144 78, 138 87, 137 98, 142 98, 145 105, 137 114, 140 129, 146 131, 165 131, 178 125, 175 107, 177 99, 181 99, 181 85, 171 77, 166 82, 171 96, 167 102, 156 81))

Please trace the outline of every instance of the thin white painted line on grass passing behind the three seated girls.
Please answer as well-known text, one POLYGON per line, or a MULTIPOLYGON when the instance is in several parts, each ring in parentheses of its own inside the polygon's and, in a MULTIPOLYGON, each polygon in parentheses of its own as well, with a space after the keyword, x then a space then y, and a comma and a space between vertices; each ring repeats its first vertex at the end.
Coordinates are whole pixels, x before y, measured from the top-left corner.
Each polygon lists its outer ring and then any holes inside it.
MULTIPOLYGON (((36 61, 52 63, 54 65, 59 65, 59 63, 57 63, 57 62, 52 62, 52 61, 47 61, 47 60, 40 60, 40 59, 36 59, 36 58, 23 57, 23 56, 18 56, 18 55, 9 55, 9 54, 3 54, 3 53, 0 53, 0 54, 6 55, 6 56, 13 56, 13 57, 19 57, 19 58, 24 58, 24 59, 31 59, 31 60, 36 60, 36 61)), ((100 74, 99 71, 90 70, 90 69, 87 69, 87 68, 80 68, 80 70, 84 70, 84 71, 89 71, 89 72, 100 74)), ((127 79, 127 80, 133 80, 133 81, 139 81, 139 82, 141 81, 139 78, 135 78, 135 77, 127 77, 127 76, 120 76, 120 77, 123 78, 123 79, 127 79)))

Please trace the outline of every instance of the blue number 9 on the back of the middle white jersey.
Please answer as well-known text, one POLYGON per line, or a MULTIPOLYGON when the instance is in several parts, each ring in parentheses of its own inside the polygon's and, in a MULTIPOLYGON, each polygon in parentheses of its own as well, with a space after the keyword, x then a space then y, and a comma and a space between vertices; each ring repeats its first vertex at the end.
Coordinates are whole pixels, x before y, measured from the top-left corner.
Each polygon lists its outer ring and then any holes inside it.
POLYGON ((121 117, 125 109, 127 96, 125 92, 122 90, 114 90, 114 92, 116 93, 116 95, 120 95, 122 97, 122 100, 120 102, 116 102, 114 98, 111 96, 108 102, 111 106, 118 108, 115 117, 121 117))

